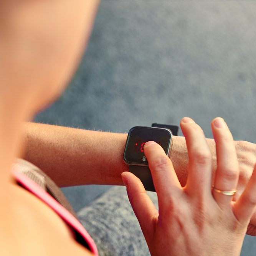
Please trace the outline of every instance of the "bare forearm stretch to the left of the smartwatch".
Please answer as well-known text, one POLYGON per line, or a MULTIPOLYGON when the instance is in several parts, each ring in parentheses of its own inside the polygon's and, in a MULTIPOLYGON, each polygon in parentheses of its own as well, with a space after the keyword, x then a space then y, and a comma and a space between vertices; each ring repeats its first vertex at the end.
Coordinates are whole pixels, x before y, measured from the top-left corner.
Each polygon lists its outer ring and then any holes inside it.
POLYGON ((122 185, 128 170, 122 160, 126 134, 25 123, 24 158, 41 168, 59 187, 122 185))

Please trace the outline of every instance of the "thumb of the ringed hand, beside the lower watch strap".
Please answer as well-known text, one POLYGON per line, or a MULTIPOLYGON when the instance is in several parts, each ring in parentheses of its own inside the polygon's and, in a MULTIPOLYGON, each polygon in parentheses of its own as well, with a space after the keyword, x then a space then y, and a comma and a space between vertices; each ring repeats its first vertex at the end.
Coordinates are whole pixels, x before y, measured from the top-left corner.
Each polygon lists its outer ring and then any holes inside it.
POLYGON ((123 172, 122 180, 126 186, 132 209, 140 223, 140 228, 148 241, 154 235, 154 227, 159 215, 158 210, 147 195, 139 178, 133 173, 123 172))

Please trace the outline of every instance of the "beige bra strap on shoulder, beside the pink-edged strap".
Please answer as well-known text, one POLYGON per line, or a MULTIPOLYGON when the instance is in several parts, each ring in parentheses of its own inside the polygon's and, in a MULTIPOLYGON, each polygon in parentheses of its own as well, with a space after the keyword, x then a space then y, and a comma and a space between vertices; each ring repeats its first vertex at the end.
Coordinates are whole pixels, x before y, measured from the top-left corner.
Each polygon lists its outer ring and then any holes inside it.
POLYGON ((48 192, 53 198, 55 198, 63 207, 65 207, 75 218, 78 219, 76 212, 70 205, 67 198, 64 196, 63 192, 55 184, 55 182, 53 182, 53 180, 42 170, 23 159, 16 159, 13 163, 13 168, 33 180, 36 184, 38 184, 41 188, 48 192))

